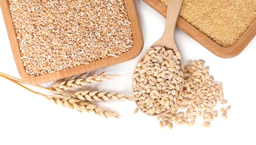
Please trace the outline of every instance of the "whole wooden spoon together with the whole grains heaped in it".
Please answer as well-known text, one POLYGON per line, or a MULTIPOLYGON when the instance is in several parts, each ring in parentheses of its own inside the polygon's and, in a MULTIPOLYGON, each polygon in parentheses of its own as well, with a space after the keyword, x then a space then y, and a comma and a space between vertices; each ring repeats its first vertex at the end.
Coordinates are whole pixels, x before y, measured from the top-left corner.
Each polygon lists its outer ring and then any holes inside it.
POLYGON ((182 0, 170 0, 163 36, 145 52, 135 68, 132 91, 138 108, 147 115, 175 111, 183 88, 181 55, 174 31, 182 0))

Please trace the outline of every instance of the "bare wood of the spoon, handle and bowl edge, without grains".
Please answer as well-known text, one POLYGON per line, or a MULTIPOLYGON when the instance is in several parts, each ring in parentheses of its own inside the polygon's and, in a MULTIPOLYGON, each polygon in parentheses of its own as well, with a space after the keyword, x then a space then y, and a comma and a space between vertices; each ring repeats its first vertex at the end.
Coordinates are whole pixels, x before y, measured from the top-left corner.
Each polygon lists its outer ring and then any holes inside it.
MULTIPOLYGON (((168 1, 166 27, 165 27, 163 36, 158 41, 153 43, 153 45, 150 48, 153 48, 155 46, 162 46, 166 50, 172 50, 176 55, 177 54, 180 55, 180 53, 177 49, 177 46, 175 45, 174 32, 175 32, 176 22, 179 17, 181 5, 182 5, 182 0, 169 0, 168 1)), ((149 52, 149 50, 147 52, 145 52, 144 56, 140 59, 139 62, 144 60, 144 57, 145 57, 145 55, 148 54, 148 52, 149 52)), ((184 67, 183 67, 181 59, 180 59, 180 62, 181 62, 181 64, 180 64, 181 71, 184 72, 184 67)), ((134 74, 135 74, 135 72, 134 72, 134 74)), ((183 80, 184 80, 184 78, 183 78, 183 80)), ((132 79, 132 82, 133 81, 134 81, 134 79, 132 79)), ((179 95, 182 92, 182 88, 183 88, 183 81, 182 81, 182 85, 180 87, 179 95)), ((135 91, 134 86, 132 86, 132 92, 134 93, 134 91, 135 91)), ((138 105, 138 101, 135 101, 135 103, 138 106, 138 108, 141 110, 141 108, 138 105)), ((152 115, 152 116, 161 115, 166 111, 167 110, 163 111, 162 113, 158 113, 158 114, 157 113, 148 114, 148 113, 145 113, 143 110, 141 110, 141 112, 143 112, 147 115, 152 115)))

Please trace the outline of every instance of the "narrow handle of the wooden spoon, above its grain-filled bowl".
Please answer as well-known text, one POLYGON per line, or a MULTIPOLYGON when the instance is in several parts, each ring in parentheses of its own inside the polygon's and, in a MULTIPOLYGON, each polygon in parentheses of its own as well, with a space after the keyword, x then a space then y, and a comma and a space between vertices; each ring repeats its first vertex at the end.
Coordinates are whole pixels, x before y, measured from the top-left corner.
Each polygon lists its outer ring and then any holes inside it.
POLYGON ((174 41, 175 26, 179 17, 182 0, 169 0, 167 7, 166 27, 163 38, 174 41))

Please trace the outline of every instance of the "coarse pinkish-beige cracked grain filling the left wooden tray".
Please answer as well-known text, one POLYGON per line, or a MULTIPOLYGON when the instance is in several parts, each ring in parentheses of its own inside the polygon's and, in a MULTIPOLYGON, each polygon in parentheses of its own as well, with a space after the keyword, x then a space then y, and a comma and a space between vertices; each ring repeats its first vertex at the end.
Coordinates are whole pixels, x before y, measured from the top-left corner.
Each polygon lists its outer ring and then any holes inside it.
POLYGON ((132 47, 124 0, 9 0, 26 73, 118 57, 132 47))

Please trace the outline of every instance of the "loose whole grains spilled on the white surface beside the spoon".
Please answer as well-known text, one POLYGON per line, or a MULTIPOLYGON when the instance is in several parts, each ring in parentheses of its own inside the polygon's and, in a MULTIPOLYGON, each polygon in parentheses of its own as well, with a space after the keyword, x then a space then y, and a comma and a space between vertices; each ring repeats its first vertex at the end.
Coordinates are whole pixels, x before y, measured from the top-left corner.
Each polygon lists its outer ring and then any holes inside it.
MULTIPOLYGON (((193 126, 195 119, 203 119, 204 127, 209 127, 214 118, 218 116, 216 105, 220 102, 227 104, 223 95, 222 83, 214 81, 214 77, 208 73, 209 67, 204 67, 204 61, 189 61, 184 70, 184 87, 180 96, 179 106, 158 116, 160 126, 177 125, 193 126)), ((227 119, 227 111, 231 106, 222 106, 222 117, 227 119)))

